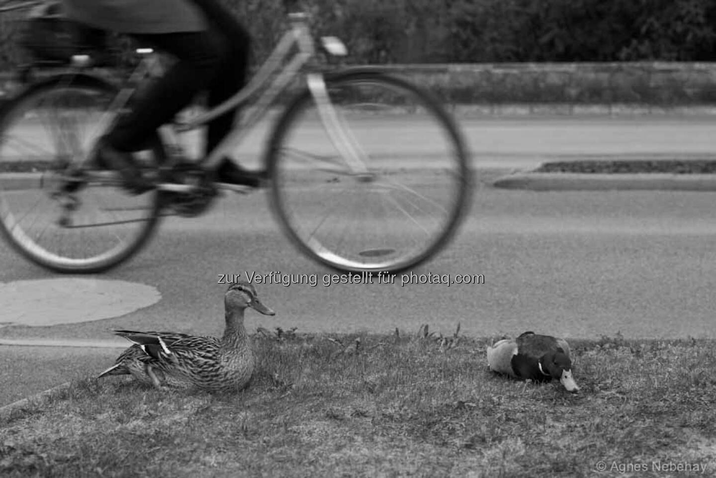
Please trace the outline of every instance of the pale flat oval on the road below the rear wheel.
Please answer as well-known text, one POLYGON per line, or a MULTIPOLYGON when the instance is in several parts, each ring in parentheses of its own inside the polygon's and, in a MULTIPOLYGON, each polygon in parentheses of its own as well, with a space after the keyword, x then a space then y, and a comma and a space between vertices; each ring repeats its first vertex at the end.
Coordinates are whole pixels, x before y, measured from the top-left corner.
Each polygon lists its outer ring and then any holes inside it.
POLYGON ((0 284, 0 327, 45 326, 119 317, 159 302, 156 287, 100 279, 18 280, 0 284))

